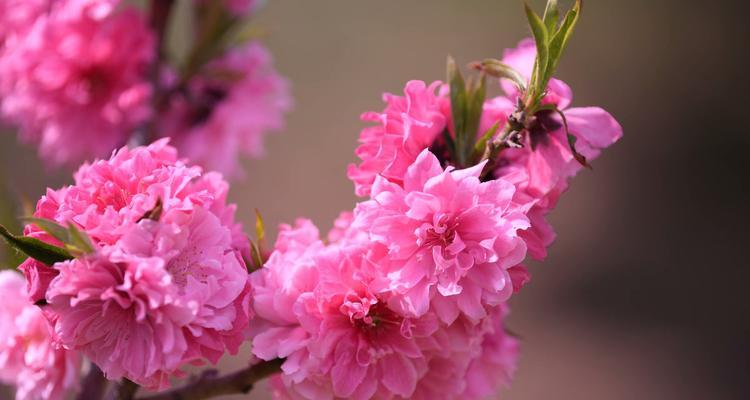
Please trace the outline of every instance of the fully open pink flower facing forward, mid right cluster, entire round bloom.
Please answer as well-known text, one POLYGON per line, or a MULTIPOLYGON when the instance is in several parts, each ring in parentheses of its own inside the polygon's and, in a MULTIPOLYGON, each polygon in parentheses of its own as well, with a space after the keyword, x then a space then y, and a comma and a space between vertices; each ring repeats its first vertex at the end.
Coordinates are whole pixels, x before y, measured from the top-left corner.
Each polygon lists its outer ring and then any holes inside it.
POLYGON ((377 263, 400 294, 394 306, 406 315, 432 306, 446 323, 459 313, 478 320, 484 305, 512 293, 508 268, 526 254, 518 232, 528 220, 511 202, 512 184, 480 182, 483 167, 444 171, 424 150, 403 187, 378 177, 372 200, 357 206, 353 225, 386 247, 377 263))

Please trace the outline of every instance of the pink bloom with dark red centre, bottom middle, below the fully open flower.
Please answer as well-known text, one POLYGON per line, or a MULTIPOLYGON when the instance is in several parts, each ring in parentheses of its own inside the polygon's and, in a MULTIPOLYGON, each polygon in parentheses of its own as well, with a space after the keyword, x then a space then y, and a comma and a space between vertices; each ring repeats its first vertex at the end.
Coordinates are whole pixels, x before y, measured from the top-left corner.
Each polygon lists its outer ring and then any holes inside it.
POLYGON ((389 293, 365 256, 363 247, 332 246, 314 257, 319 281, 294 304, 307 338, 282 375, 298 396, 409 398, 426 372, 421 341, 430 341, 437 318, 405 318, 389 308, 389 293))

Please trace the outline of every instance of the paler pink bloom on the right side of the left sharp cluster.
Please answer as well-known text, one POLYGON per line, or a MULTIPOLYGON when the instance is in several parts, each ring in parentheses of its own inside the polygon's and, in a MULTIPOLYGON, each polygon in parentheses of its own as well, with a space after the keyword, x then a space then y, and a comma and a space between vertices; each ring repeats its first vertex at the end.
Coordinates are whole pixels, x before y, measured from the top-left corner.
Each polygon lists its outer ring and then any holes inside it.
POLYGON ((250 286, 232 231, 214 214, 203 208, 169 211, 158 222, 139 222, 117 246, 163 260, 181 303, 197 307, 185 325, 185 358, 216 363, 225 350, 237 353, 250 318, 250 286))

